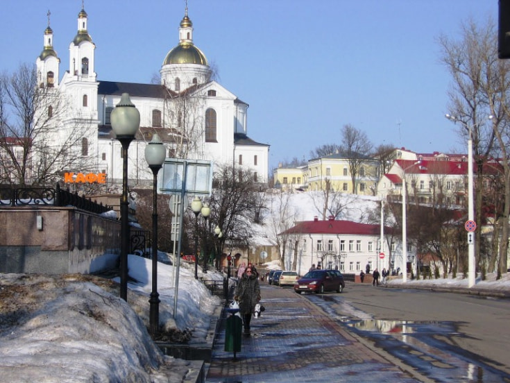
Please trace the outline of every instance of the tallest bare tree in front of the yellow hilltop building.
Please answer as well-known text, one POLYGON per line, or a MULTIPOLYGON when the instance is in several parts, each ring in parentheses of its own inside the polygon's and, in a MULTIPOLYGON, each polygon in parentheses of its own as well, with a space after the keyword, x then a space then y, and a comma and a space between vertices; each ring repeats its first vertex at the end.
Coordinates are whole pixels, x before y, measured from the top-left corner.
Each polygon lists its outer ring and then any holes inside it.
POLYGON ((346 154, 348 159, 350 178, 352 180, 352 194, 357 194, 357 178, 362 164, 364 164, 366 160, 371 160, 369 155, 371 154, 373 146, 366 133, 350 124, 343 126, 341 136, 341 150, 346 154))

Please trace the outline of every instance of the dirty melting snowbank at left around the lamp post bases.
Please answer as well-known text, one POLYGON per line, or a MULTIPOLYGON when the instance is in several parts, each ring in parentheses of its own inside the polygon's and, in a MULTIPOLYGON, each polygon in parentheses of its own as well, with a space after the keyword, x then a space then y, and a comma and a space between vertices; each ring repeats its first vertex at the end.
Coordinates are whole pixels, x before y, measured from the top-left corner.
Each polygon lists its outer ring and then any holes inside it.
MULTIPOLYGON (((128 303, 117 283, 92 275, 0 274, 0 380, 182 382, 196 362, 164 356, 146 330, 151 260, 129 255, 128 265, 137 280, 128 303)), ((174 321, 172 275, 158 263, 160 325, 169 338, 203 341, 221 300, 183 265, 174 321)))

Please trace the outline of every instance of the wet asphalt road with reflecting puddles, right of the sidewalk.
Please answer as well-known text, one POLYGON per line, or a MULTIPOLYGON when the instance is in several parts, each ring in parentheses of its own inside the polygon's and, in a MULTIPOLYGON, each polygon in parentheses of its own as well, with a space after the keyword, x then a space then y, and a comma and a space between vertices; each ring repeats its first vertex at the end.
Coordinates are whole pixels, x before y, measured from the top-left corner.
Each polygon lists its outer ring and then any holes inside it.
POLYGON ((434 382, 510 382, 508 299, 370 284, 308 298, 434 382))

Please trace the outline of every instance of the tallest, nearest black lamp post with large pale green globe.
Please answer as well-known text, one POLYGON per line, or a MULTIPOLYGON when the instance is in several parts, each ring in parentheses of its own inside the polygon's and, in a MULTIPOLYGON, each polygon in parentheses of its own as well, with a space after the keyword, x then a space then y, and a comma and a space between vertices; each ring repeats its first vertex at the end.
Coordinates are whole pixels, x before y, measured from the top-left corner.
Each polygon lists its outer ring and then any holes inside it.
POLYGON ((121 101, 110 115, 112 130, 122 145, 122 197, 121 197, 121 292, 120 296, 128 300, 128 245, 129 245, 129 203, 128 203, 128 148, 135 139, 140 126, 140 112, 131 102, 129 94, 123 93, 121 101))

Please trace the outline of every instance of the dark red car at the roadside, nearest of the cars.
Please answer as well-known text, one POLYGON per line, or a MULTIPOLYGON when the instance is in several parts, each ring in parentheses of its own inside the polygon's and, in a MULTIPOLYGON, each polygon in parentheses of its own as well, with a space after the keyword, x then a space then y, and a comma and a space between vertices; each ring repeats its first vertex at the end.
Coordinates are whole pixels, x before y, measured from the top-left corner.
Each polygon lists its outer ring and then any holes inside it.
POLYGON ((310 293, 324 293, 337 291, 341 293, 346 287, 343 275, 338 270, 312 270, 306 273, 294 284, 294 291, 300 294, 303 291, 310 293))

